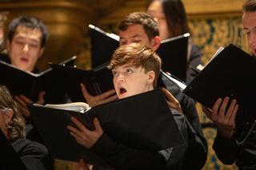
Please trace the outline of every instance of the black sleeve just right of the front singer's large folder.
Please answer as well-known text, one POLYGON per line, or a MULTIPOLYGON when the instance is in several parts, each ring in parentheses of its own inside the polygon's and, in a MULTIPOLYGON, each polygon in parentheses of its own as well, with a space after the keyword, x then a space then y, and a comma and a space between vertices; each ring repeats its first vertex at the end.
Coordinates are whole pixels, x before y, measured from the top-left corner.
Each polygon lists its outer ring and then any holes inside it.
POLYGON ((186 116, 189 144, 182 169, 202 169, 207 160, 208 144, 202 133, 195 101, 184 95, 181 105, 186 116))

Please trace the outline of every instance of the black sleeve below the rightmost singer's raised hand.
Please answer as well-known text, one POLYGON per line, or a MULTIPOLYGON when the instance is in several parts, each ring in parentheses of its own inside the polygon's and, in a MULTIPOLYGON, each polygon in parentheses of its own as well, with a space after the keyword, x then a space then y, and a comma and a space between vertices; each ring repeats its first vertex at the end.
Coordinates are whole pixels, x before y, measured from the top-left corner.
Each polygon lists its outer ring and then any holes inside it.
POLYGON ((223 138, 217 132, 217 136, 213 144, 214 151, 218 159, 223 164, 233 164, 238 158, 240 152, 240 146, 238 140, 233 135, 230 139, 223 138))

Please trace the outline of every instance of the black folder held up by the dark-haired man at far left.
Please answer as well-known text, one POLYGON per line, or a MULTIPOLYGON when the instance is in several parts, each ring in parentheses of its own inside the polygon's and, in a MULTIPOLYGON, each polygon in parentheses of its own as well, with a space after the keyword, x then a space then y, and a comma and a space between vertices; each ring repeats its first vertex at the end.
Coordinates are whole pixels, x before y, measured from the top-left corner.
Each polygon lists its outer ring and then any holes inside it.
MULTIPOLYGON (((71 57, 60 65, 73 65, 75 58, 71 57)), ((42 91, 46 91, 44 99, 47 103, 63 103, 65 98, 51 68, 42 73, 31 73, 0 61, 0 84, 6 85, 12 95, 23 94, 34 102, 38 101, 38 93, 42 91)))

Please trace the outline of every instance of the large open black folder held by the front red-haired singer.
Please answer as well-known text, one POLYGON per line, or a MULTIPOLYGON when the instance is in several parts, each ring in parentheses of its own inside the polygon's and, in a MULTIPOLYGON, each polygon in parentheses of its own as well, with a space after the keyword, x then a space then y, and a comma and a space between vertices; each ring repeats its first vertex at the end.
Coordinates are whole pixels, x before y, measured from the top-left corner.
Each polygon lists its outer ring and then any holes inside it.
POLYGON ((159 151, 185 144, 161 89, 98 105, 86 113, 42 105, 27 107, 55 159, 79 160, 86 156, 88 164, 106 166, 99 156, 70 135, 66 128, 74 125, 70 117, 78 118, 90 130, 94 129, 94 117, 98 117, 107 135, 132 148, 159 151))

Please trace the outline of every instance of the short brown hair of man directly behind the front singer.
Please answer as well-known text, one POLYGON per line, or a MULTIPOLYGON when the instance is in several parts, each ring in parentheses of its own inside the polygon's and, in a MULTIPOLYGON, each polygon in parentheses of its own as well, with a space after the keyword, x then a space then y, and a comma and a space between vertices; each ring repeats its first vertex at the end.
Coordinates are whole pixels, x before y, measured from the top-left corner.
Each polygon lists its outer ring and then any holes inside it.
POLYGON ((118 29, 125 31, 127 30, 128 26, 134 24, 143 26, 149 40, 159 35, 158 22, 154 21, 154 18, 152 18, 149 14, 142 12, 134 12, 126 15, 126 17, 118 23, 118 29))

